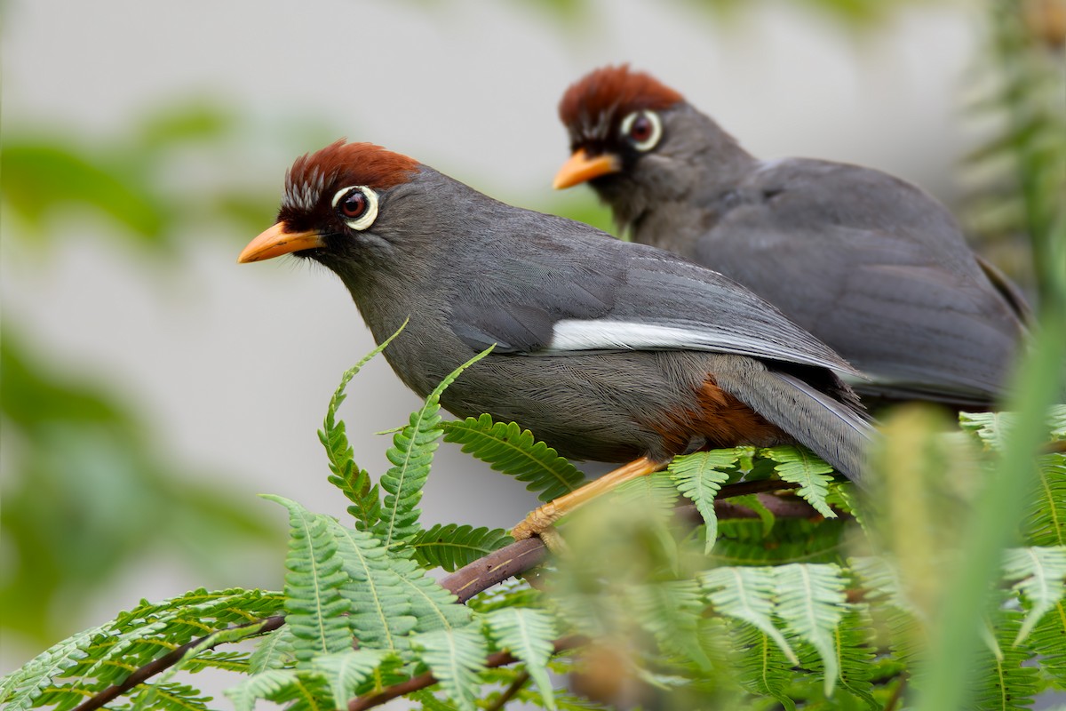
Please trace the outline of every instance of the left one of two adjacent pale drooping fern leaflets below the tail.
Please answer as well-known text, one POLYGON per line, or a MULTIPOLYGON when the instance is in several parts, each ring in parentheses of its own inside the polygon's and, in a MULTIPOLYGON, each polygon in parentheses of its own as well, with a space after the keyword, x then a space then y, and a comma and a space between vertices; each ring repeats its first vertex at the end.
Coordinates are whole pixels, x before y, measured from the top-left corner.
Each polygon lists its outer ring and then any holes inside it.
POLYGON ((789 662, 800 660, 774 625, 777 578, 773 568, 723 567, 700 573, 707 601, 720 615, 747 623, 774 641, 789 662))

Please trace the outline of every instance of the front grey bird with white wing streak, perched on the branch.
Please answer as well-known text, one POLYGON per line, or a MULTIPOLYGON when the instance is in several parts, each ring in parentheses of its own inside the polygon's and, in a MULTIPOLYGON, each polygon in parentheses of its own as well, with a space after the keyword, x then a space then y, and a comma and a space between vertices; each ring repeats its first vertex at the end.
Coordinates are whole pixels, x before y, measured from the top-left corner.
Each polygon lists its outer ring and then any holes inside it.
POLYGON ((276 224, 239 262, 293 255, 348 288, 384 355, 441 395, 561 455, 623 466, 545 504, 544 534, 603 490, 712 447, 800 443, 860 480, 875 431, 857 371, 747 289, 674 254, 500 203, 418 161, 343 139, 295 160, 276 224))

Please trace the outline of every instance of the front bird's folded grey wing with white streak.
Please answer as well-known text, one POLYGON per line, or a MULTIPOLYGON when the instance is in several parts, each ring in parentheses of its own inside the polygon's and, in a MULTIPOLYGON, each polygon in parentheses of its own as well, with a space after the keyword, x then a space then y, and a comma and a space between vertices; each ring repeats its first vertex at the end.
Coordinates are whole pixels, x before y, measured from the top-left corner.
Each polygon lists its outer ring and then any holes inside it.
MULTIPOLYGON (((540 233, 513 233, 520 248, 498 256, 511 263, 458 290, 450 323, 459 338, 474 349, 497 343, 501 353, 698 350, 857 374, 731 279, 669 253, 561 222, 565 247, 545 239, 543 221, 535 223, 540 233)), ((561 228, 555 221, 550 225, 548 232, 561 228)))

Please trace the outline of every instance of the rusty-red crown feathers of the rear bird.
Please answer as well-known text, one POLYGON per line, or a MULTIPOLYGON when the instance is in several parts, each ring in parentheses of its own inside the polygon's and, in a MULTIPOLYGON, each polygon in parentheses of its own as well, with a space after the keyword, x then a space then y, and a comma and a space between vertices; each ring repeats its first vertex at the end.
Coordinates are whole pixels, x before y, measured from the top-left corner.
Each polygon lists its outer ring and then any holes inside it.
POLYGON ((559 116, 567 126, 603 112, 637 109, 661 110, 681 101, 683 97, 662 84, 651 75, 631 71, 628 64, 595 69, 563 94, 559 116))

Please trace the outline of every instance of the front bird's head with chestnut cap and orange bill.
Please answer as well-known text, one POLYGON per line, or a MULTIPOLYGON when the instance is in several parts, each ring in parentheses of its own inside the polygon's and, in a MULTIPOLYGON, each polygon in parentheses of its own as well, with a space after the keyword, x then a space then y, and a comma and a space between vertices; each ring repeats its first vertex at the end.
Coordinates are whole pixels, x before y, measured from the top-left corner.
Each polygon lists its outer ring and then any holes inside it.
POLYGON ((332 266, 384 243, 375 230, 390 194, 421 171, 418 161, 371 143, 343 140, 296 159, 286 175, 277 223, 252 240, 239 262, 281 255, 332 266))

